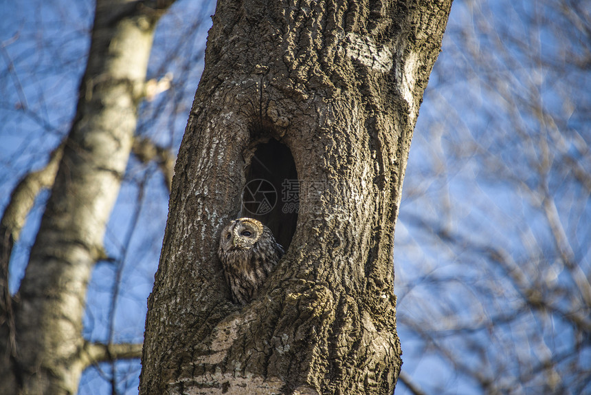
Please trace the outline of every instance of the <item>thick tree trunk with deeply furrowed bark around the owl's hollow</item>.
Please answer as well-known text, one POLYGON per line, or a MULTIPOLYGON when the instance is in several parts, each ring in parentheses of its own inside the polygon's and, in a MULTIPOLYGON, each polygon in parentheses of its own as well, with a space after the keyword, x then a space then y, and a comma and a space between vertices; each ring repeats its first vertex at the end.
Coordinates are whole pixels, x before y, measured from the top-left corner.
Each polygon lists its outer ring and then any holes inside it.
POLYGON ((450 6, 218 1, 148 299, 142 394, 392 394, 394 226, 450 6), (263 178, 249 171, 258 154, 274 178, 290 173, 269 147, 293 156, 300 212, 287 254, 241 307, 216 248, 245 184, 263 178))

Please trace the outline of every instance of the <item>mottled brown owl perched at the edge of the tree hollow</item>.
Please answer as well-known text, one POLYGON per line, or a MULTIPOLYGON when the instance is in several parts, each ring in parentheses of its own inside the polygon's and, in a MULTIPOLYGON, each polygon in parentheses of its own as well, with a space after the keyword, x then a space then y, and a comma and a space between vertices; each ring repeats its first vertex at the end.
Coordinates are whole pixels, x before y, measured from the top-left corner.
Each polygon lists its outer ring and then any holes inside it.
POLYGON ((252 218, 230 222, 220 236, 218 255, 234 303, 256 297, 285 251, 267 226, 252 218))

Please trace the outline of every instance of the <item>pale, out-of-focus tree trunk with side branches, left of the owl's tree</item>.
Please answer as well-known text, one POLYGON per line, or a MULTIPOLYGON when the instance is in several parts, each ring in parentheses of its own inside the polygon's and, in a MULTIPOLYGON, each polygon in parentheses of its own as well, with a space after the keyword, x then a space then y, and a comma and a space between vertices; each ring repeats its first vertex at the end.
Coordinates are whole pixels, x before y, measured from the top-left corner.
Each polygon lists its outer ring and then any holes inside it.
POLYGON ((172 1, 98 0, 76 118, 46 169, 23 179, 3 216, 0 394, 76 394, 85 367, 139 356, 141 345, 82 338, 93 265, 132 146, 155 24, 172 1), (34 196, 52 186, 25 277, 8 259, 34 196))

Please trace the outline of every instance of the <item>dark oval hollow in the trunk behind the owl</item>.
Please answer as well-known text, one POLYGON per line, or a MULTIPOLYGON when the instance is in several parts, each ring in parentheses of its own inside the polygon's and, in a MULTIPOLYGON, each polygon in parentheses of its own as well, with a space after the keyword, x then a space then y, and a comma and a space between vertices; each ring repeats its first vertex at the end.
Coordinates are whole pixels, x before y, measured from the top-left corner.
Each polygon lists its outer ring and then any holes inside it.
POLYGON ((298 224, 299 192, 291 151, 271 138, 256 146, 246 169, 241 217, 251 217, 267 225, 287 251, 298 224))

